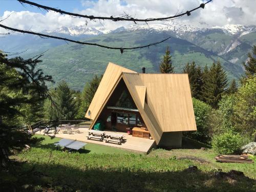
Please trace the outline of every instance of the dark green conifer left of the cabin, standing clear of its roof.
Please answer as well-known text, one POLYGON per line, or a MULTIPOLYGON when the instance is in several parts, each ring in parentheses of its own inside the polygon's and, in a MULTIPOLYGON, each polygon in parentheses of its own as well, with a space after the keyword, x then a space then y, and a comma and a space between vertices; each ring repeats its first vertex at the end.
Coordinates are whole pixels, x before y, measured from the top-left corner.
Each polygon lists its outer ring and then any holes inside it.
POLYGON ((59 119, 72 120, 77 113, 75 98, 66 81, 60 81, 56 89, 59 119))

